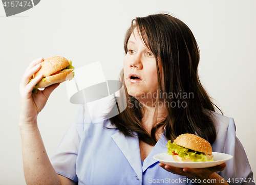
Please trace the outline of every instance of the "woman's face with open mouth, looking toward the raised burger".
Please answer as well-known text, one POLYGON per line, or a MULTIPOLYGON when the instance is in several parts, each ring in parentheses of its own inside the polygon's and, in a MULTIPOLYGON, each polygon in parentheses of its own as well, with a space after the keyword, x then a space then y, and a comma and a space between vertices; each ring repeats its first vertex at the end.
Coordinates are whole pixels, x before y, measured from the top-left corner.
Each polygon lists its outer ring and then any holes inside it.
POLYGON ((123 70, 128 94, 140 102, 156 98, 158 87, 156 59, 145 47, 136 28, 127 42, 127 50, 123 70))

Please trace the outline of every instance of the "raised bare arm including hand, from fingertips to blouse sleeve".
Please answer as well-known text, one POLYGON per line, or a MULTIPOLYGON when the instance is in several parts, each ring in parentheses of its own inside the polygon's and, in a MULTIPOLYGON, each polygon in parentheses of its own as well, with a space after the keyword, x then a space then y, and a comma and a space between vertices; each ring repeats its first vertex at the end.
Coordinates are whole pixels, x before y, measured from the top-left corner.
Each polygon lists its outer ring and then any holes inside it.
POLYGON ((51 92, 58 86, 58 84, 54 84, 43 91, 38 90, 37 94, 32 94, 33 87, 41 80, 42 76, 34 78, 31 82, 30 79, 40 69, 39 62, 42 60, 39 58, 30 63, 19 86, 19 129, 22 138, 25 179, 27 184, 75 184, 74 181, 57 175, 50 163, 37 127, 38 113, 46 105, 51 92))

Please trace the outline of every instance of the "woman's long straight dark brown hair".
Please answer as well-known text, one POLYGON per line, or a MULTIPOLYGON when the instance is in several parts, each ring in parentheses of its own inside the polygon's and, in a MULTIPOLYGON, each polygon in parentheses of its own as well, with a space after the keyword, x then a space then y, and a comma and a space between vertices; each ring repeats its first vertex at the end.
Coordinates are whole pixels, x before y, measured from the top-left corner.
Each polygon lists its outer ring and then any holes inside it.
POLYGON ((216 140, 216 127, 211 111, 215 111, 215 105, 198 77, 200 52, 193 33, 184 22, 168 14, 136 17, 125 35, 125 54, 127 42, 134 29, 138 29, 146 47, 156 58, 158 96, 153 128, 148 133, 142 127, 143 108, 138 100, 128 94, 123 70, 120 73, 120 87, 123 85, 124 93, 121 92, 116 101, 119 108, 125 104, 127 107, 110 118, 111 124, 126 136, 138 134, 139 140, 149 145, 157 143, 158 129, 163 129, 168 140, 174 140, 183 133, 194 133, 213 144, 216 140), (159 66, 162 70, 161 76, 159 66), (168 115, 157 123, 158 102, 159 98, 163 98, 161 95, 167 95, 164 100, 168 115))

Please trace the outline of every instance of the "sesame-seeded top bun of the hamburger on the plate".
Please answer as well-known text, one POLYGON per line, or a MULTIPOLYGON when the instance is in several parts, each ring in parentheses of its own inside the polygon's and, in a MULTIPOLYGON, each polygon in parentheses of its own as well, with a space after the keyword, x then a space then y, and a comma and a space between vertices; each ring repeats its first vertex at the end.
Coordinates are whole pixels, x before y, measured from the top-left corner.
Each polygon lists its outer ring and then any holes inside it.
POLYGON ((206 155, 211 154, 212 152, 209 142, 195 134, 181 134, 176 137, 174 143, 191 150, 205 153, 206 155))

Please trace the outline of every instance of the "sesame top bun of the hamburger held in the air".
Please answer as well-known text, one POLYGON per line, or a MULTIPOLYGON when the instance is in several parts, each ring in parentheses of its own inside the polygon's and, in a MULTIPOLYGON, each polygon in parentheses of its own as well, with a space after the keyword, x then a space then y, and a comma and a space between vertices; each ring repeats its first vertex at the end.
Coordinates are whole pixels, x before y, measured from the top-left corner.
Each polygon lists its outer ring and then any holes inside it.
POLYGON ((48 77, 53 73, 56 73, 63 68, 69 65, 69 61, 64 57, 49 57, 44 61, 40 62, 41 68, 38 72, 36 72, 33 77, 37 77, 38 75, 43 75, 44 77, 48 77))

